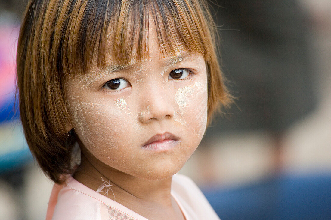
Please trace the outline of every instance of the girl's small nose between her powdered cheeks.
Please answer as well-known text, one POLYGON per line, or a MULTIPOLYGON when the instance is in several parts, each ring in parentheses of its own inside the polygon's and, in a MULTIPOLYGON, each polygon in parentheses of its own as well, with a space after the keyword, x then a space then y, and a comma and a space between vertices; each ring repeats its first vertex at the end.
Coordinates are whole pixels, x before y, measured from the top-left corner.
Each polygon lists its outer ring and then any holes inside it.
POLYGON ((174 115, 171 91, 162 85, 155 85, 146 88, 143 96, 142 111, 139 120, 142 123, 149 123, 153 120, 161 121, 164 118, 171 118, 174 115))

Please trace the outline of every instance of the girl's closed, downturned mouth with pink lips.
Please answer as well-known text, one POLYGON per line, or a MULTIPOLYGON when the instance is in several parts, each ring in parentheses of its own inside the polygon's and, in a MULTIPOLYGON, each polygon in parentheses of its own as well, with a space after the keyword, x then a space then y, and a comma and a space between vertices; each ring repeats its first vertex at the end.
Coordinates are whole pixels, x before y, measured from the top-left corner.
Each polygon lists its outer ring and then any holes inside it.
POLYGON ((166 151, 176 146, 178 139, 178 137, 169 132, 157 134, 146 141, 142 148, 153 151, 166 151))

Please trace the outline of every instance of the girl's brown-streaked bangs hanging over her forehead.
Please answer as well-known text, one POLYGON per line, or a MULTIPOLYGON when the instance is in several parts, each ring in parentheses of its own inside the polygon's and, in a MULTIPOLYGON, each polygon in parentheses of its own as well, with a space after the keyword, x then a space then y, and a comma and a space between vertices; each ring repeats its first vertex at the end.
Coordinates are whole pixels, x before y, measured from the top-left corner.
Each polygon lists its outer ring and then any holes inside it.
POLYGON ((95 57, 99 67, 105 66, 108 52, 118 64, 148 59, 153 21, 163 55, 186 49, 208 57, 214 50, 208 26, 213 22, 198 0, 71 0, 69 7, 68 0, 59 2, 64 5, 50 52, 58 73, 65 76, 85 73, 95 57))

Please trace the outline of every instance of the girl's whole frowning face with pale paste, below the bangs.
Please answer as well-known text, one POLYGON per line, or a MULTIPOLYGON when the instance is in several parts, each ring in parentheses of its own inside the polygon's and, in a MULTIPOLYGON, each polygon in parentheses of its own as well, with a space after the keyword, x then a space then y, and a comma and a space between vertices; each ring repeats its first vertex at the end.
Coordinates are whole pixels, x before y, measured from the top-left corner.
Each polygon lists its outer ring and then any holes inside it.
POLYGON ((98 69, 95 61, 67 86, 80 147, 118 171, 149 180, 177 173, 207 124, 203 56, 182 50, 164 57, 155 36, 150 30, 150 59, 120 66, 110 56, 107 67, 98 69))

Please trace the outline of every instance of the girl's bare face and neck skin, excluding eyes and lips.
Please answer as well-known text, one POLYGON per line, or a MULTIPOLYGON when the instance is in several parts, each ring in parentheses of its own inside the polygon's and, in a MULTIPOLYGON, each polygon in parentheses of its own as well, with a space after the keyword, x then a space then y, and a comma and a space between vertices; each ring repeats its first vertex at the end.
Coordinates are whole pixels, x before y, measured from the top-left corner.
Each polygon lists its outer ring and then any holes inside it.
POLYGON ((111 55, 105 68, 98 69, 95 59, 88 73, 68 82, 73 121, 69 127, 74 128, 82 151, 80 169, 73 177, 95 191, 102 179, 109 181, 113 193, 105 196, 147 219, 184 219, 170 195, 171 179, 206 129, 206 65, 203 56, 186 50, 178 51, 177 57, 164 57, 156 42, 152 27, 150 59, 133 61, 121 70, 114 69, 111 55), (168 79, 172 70, 180 68, 192 74, 168 79), (115 78, 127 81, 122 81, 122 89, 103 87, 115 78), (179 138, 174 148, 164 152, 142 148, 151 137, 165 132, 179 138))

